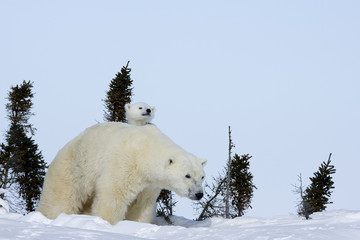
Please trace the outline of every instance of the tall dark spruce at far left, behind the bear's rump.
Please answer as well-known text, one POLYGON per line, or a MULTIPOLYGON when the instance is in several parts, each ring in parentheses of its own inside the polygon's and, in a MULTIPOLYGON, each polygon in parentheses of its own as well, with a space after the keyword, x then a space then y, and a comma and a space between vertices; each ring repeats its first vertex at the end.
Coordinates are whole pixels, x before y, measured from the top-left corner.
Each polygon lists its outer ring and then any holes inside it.
POLYGON ((35 210, 47 167, 38 145, 32 139, 36 129, 28 122, 30 116, 34 115, 31 112, 32 87, 30 81, 11 87, 9 103, 6 104, 10 129, 6 132, 6 145, 1 146, 1 171, 7 174, 2 177, 2 180, 5 179, 2 185, 10 190, 18 190, 28 212, 35 210), (12 185, 17 186, 14 188, 12 185))

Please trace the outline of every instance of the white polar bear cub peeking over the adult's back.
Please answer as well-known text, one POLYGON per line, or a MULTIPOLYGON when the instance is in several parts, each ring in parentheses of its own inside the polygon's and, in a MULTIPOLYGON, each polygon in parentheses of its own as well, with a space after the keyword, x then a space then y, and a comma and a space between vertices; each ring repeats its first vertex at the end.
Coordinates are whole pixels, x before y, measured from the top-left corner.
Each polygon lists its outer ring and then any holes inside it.
POLYGON ((155 107, 150 107, 144 102, 125 104, 126 119, 129 124, 144 126, 154 118, 155 107))

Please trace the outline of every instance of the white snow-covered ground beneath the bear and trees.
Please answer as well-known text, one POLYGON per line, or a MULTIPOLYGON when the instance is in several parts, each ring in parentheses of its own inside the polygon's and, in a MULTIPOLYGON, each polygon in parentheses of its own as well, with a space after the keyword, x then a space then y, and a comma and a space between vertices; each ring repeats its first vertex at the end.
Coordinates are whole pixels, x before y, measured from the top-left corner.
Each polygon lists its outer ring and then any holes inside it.
POLYGON ((337 210, 273 218, 212 218, 194 222, 173 217, 173 226, 122 221, 112 226, 99 217, 61 214, 55 220, 39 212, 25 216, 0 214, 0 239, 246 239, 300 240, 360 239, 360 211, 337 210))

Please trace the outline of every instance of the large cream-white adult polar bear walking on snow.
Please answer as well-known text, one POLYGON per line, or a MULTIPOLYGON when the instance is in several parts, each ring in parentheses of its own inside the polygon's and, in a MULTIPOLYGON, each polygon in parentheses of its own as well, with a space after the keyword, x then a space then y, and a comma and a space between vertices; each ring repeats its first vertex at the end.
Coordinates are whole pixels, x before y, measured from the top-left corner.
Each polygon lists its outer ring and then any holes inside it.
POLYGON ((116 224, 152 222, 161 189, 199 200, 203 166, 155 125, 102 123, 66 144, 50 164, 37 208, 48 218, 91 214, 116 224))

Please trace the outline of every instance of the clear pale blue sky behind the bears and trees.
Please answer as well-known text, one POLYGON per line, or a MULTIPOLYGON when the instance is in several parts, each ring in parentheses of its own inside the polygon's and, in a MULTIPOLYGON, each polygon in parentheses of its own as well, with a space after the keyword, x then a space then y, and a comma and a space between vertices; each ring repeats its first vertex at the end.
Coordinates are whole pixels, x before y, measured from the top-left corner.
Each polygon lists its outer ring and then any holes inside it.
MULTIPOLYGON (((11 85, 34 81, 32 123, 46 161, 103 121, 110 80, 130 60, 133 101, 208 159, 210 181, 234 152, 253 156, 250 216, 296 213, 292 184, 328 154, 329 209, 359 209, 359 1, 0 2, 0 131, 11 85)), ((3 141, 3 134, 0 140, 3 141)), ((191 217, 181 200, 176 215, 191 217)))

